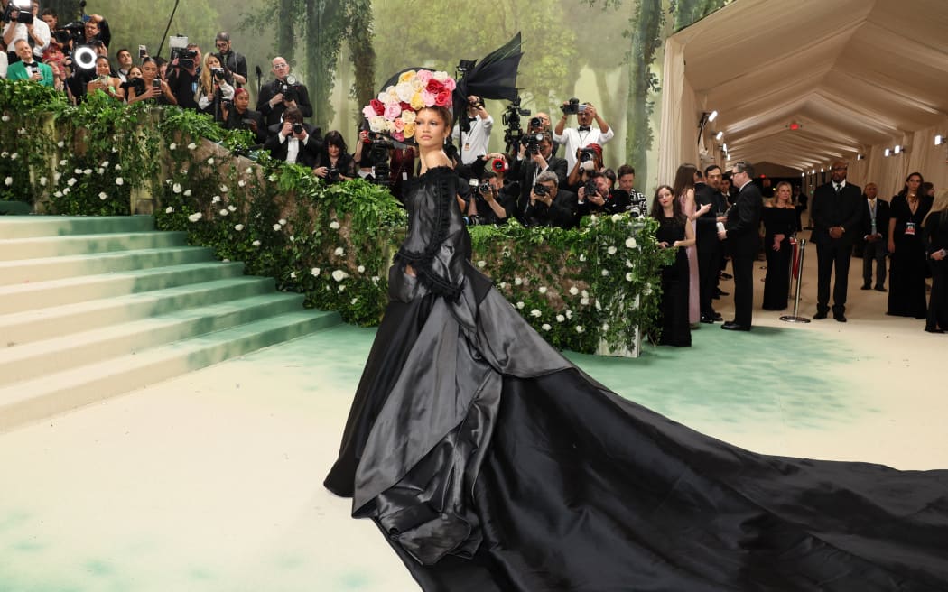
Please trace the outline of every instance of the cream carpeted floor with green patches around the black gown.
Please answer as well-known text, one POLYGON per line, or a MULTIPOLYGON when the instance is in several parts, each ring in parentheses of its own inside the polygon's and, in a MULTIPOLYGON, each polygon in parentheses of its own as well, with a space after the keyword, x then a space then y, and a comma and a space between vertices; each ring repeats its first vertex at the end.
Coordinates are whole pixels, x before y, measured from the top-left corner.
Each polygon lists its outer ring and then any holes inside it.
MULTIPOLYGON (((902 360, 831 325, 762 321, 637 359, 567 355, 759 452, 948 465, 944 405, 898 387, 927 350, 902 360)), ((373 339, 338 326, 0 434, 0 591, 416 590, 374 525, 321 486, 373 339)))

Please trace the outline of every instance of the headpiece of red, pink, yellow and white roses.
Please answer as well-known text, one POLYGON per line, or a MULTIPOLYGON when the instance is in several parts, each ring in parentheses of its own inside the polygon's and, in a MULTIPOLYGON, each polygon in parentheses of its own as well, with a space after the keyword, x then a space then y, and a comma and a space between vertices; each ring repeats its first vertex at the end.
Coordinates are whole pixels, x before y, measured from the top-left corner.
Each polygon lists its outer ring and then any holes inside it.
POLYGON ((447 107, 453 103, 457 83, 447 72, 408 70, 398 77, 398 83, 372 99, 362 115, 369 120, 369 129, 376 134, 391 135, 404 142, 414 136, 414 120, 426 107, 447 107))

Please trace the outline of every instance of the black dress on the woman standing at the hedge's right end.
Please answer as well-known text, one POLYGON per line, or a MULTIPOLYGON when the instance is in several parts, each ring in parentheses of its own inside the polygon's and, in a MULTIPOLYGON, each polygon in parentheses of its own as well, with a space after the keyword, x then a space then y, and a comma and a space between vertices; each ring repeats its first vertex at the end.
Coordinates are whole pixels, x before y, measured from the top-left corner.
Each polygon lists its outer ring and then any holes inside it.
MULTIPOLYGON (((659 219, 656 241, 671 245, 675 241, 684 241, 684 236, 683 223, 674 218, 659 219)), ((675 250, 675 260, 662 268, 662 336, 659 344, 687 347, 691 345, 691 323, 688 319, 691 269, 684 247, 675 250)))

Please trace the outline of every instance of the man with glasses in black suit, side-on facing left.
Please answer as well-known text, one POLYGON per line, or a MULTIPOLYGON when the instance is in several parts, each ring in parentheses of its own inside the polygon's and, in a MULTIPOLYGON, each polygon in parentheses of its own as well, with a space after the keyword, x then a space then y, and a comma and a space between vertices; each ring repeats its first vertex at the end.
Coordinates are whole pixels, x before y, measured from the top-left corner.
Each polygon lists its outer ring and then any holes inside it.
POLYGON ((754 261, 760 247, 757 228, 763 201, 754 185, 754 167, 743 160, 734 164, 731 180, 739 188, 734 206, 728 211, 724 230, 718 233, 727 240, 734 267, 734 320, 720 326, 725 331, 750 331, 754 310, 754 261))

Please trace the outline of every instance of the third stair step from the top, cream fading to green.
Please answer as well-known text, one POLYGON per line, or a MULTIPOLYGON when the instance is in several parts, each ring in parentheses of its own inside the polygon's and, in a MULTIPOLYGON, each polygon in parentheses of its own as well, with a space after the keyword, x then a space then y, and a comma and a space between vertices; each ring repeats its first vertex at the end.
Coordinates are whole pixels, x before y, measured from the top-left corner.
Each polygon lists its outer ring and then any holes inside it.
POLYGON ((213 250, 200 246, 141 249, 99 255, 73 255, 34 260, 0 261, 0 285, 92 276, 110 272, 165 267, 213 259, 213 250))

